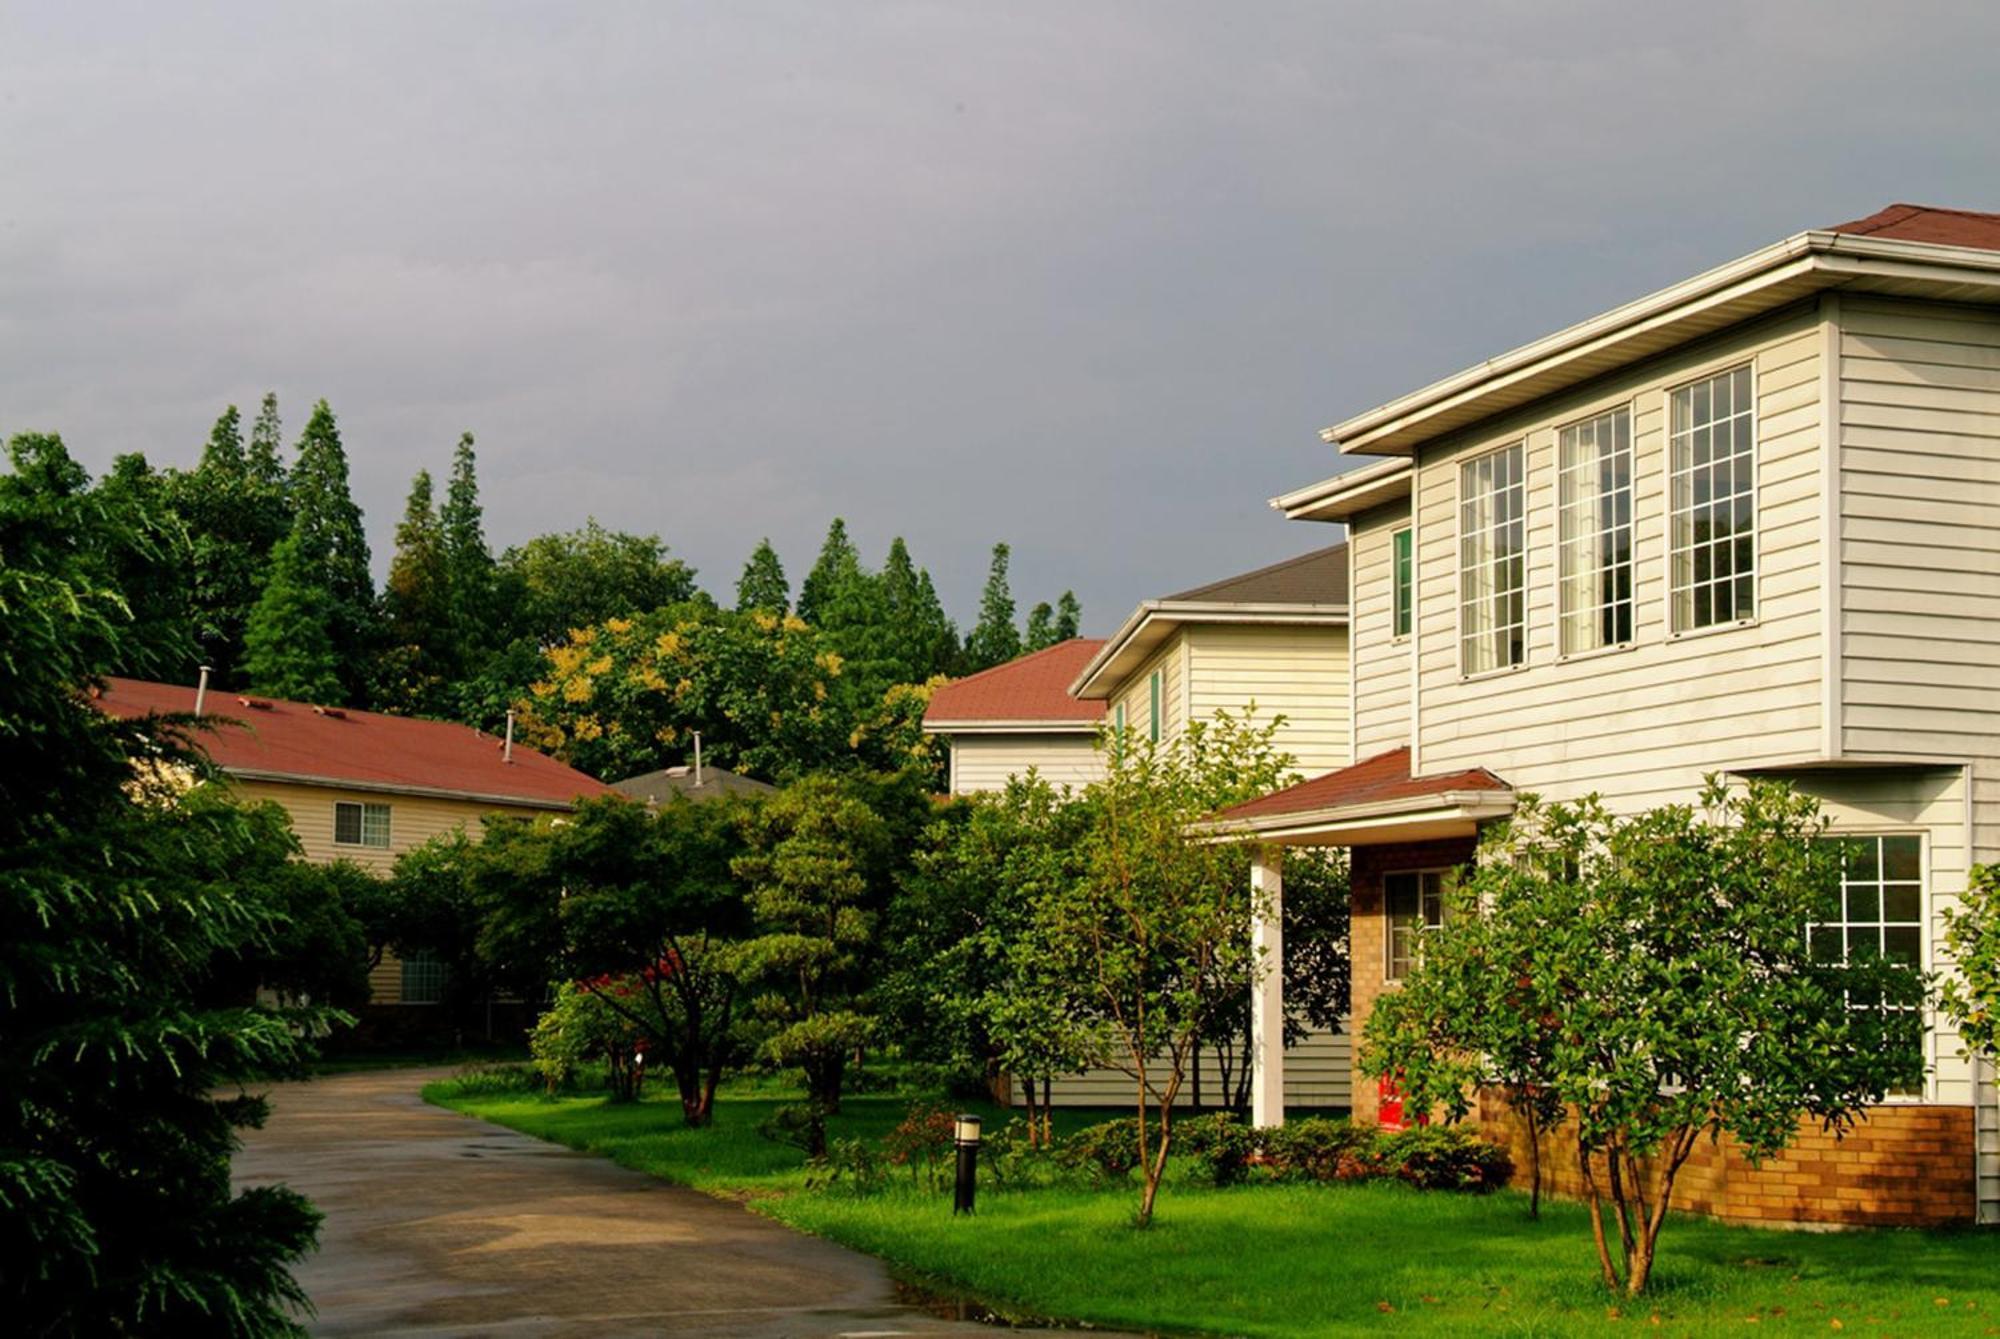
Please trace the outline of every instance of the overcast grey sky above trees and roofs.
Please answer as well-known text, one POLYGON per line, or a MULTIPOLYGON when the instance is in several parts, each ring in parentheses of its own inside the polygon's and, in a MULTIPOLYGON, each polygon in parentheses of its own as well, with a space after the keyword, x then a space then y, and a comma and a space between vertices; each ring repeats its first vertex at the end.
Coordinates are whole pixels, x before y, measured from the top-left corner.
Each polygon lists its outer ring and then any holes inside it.
POLYGON ((340 414, 378 570, 478 434, 496 548, 718 594, 830 516, 970 620, 1330 542, 1316 432, 1800 228, 2000 208, 2000 4, 0 8, 0 432, 192 464, 340 414))

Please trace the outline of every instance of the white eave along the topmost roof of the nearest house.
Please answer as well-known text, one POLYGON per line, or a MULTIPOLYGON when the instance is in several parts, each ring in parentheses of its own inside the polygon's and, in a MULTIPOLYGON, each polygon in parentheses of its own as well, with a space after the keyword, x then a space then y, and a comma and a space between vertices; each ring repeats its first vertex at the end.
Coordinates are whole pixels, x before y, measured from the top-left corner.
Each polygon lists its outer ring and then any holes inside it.
POLYGON ((1758 290, 1800 278, 1812 278, 1820 288, 1876 278, 1922 280, 1940 286, 1992 286, 2000 292, 2000 252, 1842 232, 1800 232, 1568 330, 1488 358, 1366 414, 1356 414, 1324 430, 1320 438, 1342 452, 1400 454, 1408 450, 1412 432, 1446 410, 1464 408, 1528 376, 1552 372, 1568 360, 1600 352, 1704 308, 1736 302, 1758 290))

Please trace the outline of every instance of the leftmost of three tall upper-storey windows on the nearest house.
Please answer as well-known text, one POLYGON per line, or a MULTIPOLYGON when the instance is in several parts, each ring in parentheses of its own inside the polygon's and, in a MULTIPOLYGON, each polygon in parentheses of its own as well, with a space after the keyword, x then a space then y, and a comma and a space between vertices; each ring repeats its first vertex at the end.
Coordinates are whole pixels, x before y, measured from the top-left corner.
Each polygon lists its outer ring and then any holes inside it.
POLYGON ((1458 468, 1458 666, 1464 673, 1526 660, 1526 504, 1520 444, 1458 468))

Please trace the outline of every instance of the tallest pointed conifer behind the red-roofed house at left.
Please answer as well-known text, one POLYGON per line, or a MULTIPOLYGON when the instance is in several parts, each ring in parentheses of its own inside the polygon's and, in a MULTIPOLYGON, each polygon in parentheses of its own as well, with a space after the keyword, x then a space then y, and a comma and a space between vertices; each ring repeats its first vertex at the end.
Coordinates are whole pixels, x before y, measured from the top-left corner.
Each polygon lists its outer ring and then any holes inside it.
POLYGON ((298 438, 290 490, 296 556, 302 572, 328 602, 326 632, 342 689, 334 697, 358 703, 368 695, 374 668, 374 578, 368 574, 362 510, 348 488, 348 454, 340 444, 340 424, 324 400, 312 406, 312 418, 298 438))

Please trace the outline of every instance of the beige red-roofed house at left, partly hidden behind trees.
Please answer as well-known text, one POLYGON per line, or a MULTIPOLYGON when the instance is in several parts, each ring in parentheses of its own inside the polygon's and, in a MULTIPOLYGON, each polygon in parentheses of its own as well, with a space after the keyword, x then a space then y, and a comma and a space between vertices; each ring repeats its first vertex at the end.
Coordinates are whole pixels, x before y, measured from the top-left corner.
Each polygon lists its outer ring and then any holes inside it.
MULTIPOLYGON (((122 717, 194 713, 210 759, 244 799, 292 819, 306 859, 388 873, 432 837, 478 829, 488 813, 550 813, 608 787, 534 749, 468 725, 316 707, 302 701, 106 679, 98 707, 122 717)), ((384 953, 370 1003, 436 1003, 442 967, 384 953)))

